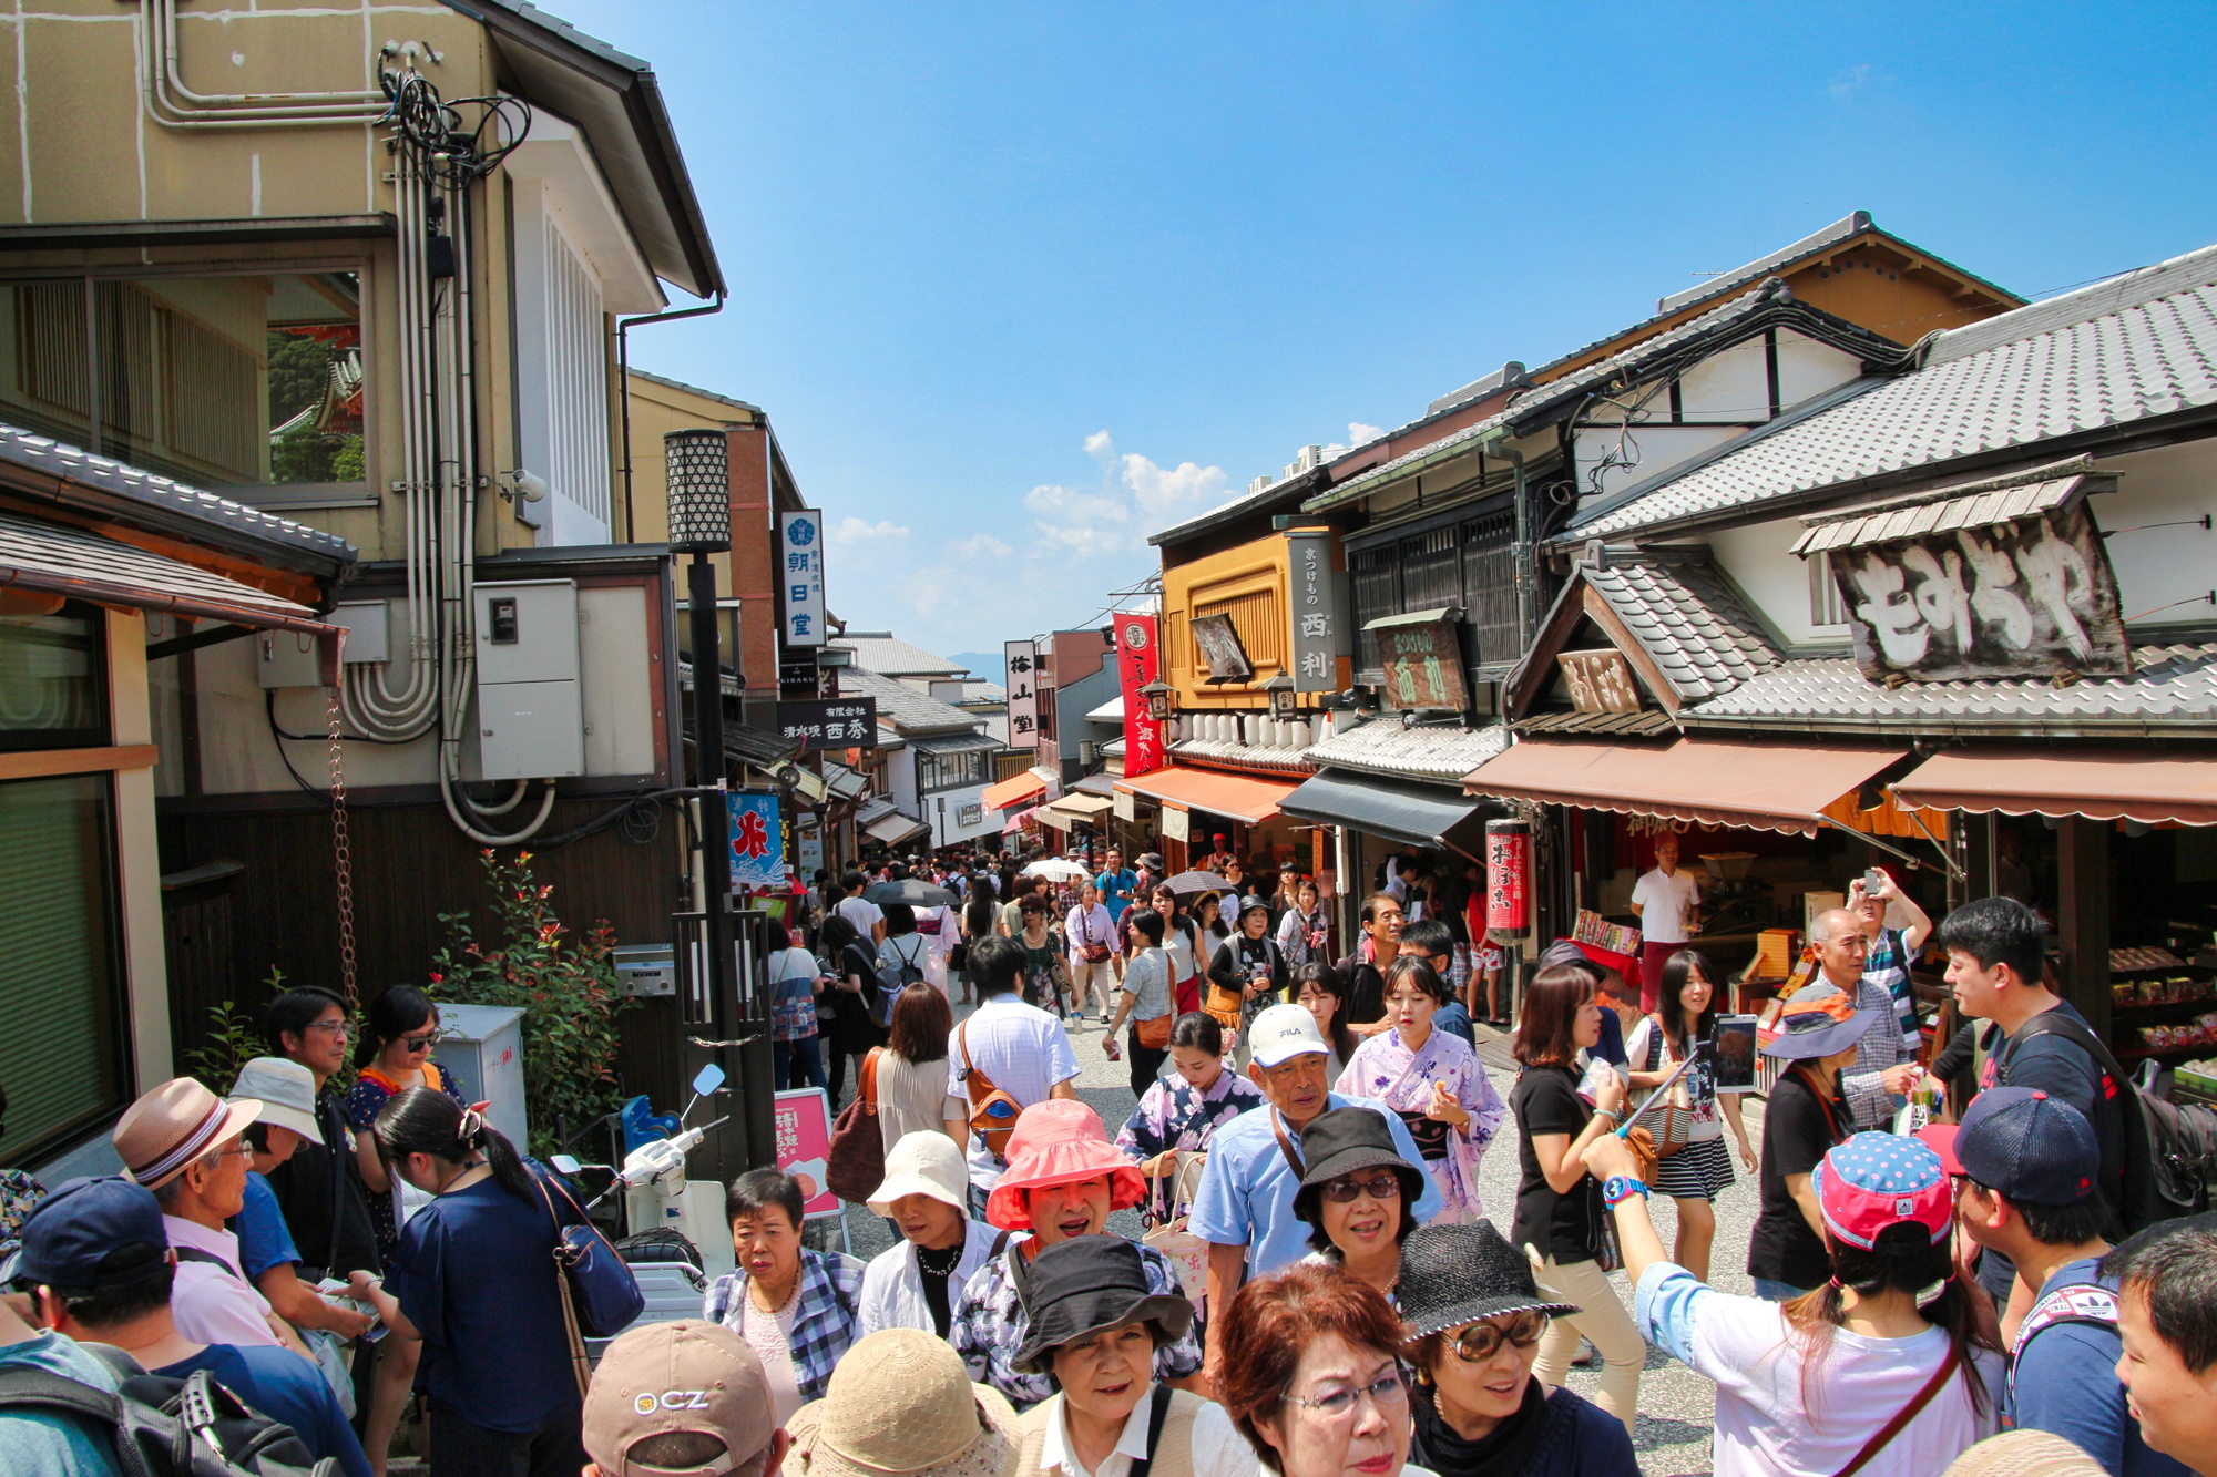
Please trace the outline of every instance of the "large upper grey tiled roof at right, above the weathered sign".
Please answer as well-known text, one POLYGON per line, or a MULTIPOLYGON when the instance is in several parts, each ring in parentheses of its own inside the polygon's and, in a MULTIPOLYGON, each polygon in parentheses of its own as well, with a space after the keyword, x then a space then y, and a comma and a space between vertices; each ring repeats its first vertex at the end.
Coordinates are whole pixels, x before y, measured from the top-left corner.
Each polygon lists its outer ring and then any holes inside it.
POLYGON ((2217 246, 1935 335, 1862 379, 1583 512, 1567 539, 1714 517, 2217 404, 2217 246))

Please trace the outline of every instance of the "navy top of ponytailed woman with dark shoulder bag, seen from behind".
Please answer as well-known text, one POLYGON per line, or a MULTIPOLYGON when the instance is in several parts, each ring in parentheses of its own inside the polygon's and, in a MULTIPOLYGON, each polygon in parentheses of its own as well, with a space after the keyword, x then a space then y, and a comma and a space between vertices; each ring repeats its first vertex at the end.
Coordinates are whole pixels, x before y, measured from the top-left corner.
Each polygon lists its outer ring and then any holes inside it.
MULTIPOLYGON (((576 1213, 554 1198, 563 1224, 576 1213)), ((499 1180, 439 1195, 401 1226, 386 1291, 423 1335, 415 1388, 486 1430, 539 1430, 579 1408, 554 1286, 554 1222, 499 1180)))

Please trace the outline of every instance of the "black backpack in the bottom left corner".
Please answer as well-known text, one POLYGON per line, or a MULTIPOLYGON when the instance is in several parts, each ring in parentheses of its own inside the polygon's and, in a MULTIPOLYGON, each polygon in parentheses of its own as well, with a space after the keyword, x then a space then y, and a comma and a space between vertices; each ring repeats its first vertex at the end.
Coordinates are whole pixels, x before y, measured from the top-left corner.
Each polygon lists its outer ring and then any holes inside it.
POLYGON ((0 1371, 0 1415, 75 1415, 104 1428, 122 1477, 339 1477, 290 1426, 255 1415, 208 1371, 149 1375, 106 1344, 80 1348, 115 1371, 122 1393, 42 1368, 0 1371))

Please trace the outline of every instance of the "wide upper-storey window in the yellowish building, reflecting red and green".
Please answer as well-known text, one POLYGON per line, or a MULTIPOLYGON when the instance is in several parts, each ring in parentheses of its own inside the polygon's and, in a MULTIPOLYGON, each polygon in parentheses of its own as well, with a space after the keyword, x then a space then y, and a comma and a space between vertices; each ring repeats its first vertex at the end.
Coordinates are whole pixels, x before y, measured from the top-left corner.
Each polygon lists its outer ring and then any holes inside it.
POLYGON ((0 419, 204 488, 353 486, 357 273, 0 284, 0 419))

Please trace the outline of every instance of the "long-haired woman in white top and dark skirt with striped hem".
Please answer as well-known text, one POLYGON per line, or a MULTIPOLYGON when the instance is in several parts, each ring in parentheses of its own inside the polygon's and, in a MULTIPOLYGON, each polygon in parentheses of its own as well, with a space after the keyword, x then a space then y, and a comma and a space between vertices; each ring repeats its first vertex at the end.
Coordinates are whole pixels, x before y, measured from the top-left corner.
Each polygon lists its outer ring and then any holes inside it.
POLYGON ((1678 1240, 1674 1260, 1694 1273, 1696 1282, 1709 1280, 1709 1246, 1716 1242, 1714 1200, 1731 1184, 1731 1153, 1725 1151, 1725 1124, 1740 1147, 1740 1162, 1756 1167, 1756 1151, 1747 1144, 1747 1124, 1740 1122, 1740 1093, 1716 1091, 1716 1067, 1703 1053, 1703 1042, 1716 1025, 1716 969, 1694 949, 1678 949, 1663 960, 1663 978, 1656 994, 1661 1009, 1643 1016, 1632 1036, 1625 1038, 1625 1056, 1632 1067, 1632 1091, 1658 1091, 1683 1062, 1692 1062, 1672 1082, 1665 1104, 1641 1118, 1641 1127, 1663 1140, 1663 1116, 1676 1113, 1685 1120, 1683 1144, 1656 1162, 1656 1193, 1669 1195, 1678 1206, 1678 1240))

